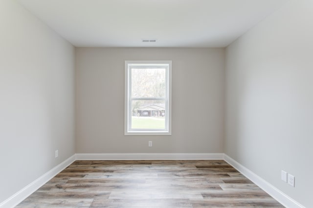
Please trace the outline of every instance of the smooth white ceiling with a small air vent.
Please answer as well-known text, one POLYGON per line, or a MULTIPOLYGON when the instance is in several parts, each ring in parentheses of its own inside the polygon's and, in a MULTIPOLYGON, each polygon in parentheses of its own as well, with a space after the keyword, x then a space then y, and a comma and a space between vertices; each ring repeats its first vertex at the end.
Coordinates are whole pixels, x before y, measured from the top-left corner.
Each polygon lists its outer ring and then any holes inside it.
POLYGON ((18 0, 77 47, 225 47, 286 1, 18 0))

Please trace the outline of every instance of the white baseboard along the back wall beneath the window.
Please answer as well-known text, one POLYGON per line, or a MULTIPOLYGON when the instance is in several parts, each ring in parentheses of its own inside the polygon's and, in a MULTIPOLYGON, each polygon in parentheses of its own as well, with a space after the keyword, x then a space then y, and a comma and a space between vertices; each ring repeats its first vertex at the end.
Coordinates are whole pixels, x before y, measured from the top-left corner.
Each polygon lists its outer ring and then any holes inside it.
POLYGON ((224 153, 78 153, 76 160, 224 160, 224 153))

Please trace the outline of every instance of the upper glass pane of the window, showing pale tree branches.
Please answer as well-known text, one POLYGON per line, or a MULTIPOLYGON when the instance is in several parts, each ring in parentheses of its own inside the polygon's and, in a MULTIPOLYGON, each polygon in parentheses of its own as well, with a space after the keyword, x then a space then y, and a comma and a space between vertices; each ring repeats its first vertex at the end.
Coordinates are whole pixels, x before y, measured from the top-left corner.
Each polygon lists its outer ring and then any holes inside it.
POLYGON ((132 97, 165 97, 166 69, 132 68, 132 97))

